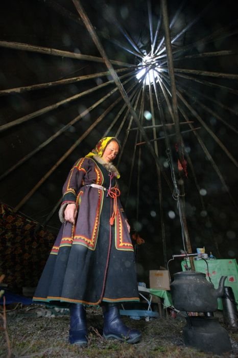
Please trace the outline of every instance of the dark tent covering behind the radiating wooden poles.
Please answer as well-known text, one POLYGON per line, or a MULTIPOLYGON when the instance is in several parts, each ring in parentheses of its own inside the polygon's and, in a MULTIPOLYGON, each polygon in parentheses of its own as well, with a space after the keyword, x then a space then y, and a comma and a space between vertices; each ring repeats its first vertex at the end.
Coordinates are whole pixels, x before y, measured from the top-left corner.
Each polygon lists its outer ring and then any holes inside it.
MULTIPOLYGON (((130 34, 140 49, 148 51, 149 21, 147 2, 145 1, 107 1, 93 2, 82 1, 94 28, 103 44, 103 47, 112 60, 137 64, 138 58, 122 48, 116 46, 119 41, 128 49, 133 47, 126 40, 120 29, 116 26, 115 17, 121 27, 130 34), (120 3, 120 4, 119 4, 120 3), (129 3, 129 4, 128 4, 129 3)), ((170 20, 179 9, 180 2, 168 0, 170 20)), ((185 26, 196 19, 196 16, 207 6, 206 1, 186 1, 178 15, 175 24, 171 28, 172 37, 185 26)), ((152 1, 153 30, 155 32, 157 20, 160 14, 158 1, 152 1)), ((63 51, 76 52, 85 55, 98 56, 100 54, 92 42, 84 25, 78 21, 78 13, 73 2, 69 0, 9 0, 1 3, 0 11, 0 40, 33 44, 46 48, 54 48, 63 51), (56 4, 62 6, 56 7, 56 4)), ((159 39, 161 39, 161 32, 159 39)), ((174 61, 176 69, 190 69, 219 72, 237 75, 237 18, 235 2, 226 3, 211 2, 201 17, 174 43, 173 50, 187 44, 194 43, 189 50, 180 53, 180 57, 174 61), (225 28, 226 27, 226 28, 225 28), (210 41, 197 42, 207 38, 213 32, 217 35, 210 41), (195 54, 233 51, 229 56, 217 57, 185 57, 195 54)), ((106 71, 103 63, 82 61, 62 56, 50 56, 28 51, 19 51, 0 47, 0 86, 1 90, 28 86, 38 83, 56 81, 73 76, 89 75, 106 71)), ((117 68, 116 66, 114 66, 117 68)), ((197 120, 194 113, 189 111, 179 102, 185 110, 190 121, 194 121, 194 127, 199 129, 199 136, 207 148, 208 155, 214 160, 218 171, 221 172, 230 197, 224 189, 214 166, 206 158, 199 140, 193 133, 183 135, 187 153, 193 163, 196 181, 202 189, 200 193, 196 188, 193 170, 188 165, 188 178, 183 177, 185 187, 186 218, 192 249, 205 245, 207 252, 212 251, 217 257, 237 258, 237 79, 217 78, 210 76, 191 75, 189 80, 176 76, 177 89, 184 94, 184 98, 197 111, 201 120, 216 135, 226 149, 221 148, 212 135, 197 120), (201 81, 212 82, 219 86, 209 86, 201 81), (185 92, 183 92, 185 91, 185 92), (222 106, 220 106, 222 104, 222 106), (206 106, 206 107, 204 107, 206 106), (219 118, 218 118, 219 117, 219 118), (228 123, 228 125, 226 125, 228 123), (231 128, 232 127, 232 128, 231 128), (234 129, 236 128, 236 129, 234 129), (227 151, 227 153, 225 152, 227 151), (230 153, 230 154, 229 154, 230 153), (204 202, 204 207, 201 204, 204 202), (232 202, 233 200, 233 202, 232 202), (235 204, 236 203, 236 204, 235 204), (235 206, 236 205, 236 206, 235 206)), ((109 76, 108 76, 109 78, 109 76)), ((0 97, 0 125, 9 123, 17 118, 26 116, 34 111, 52 105, 67 97, 73 96, 86 89, 92 88, 108 80, 107 77, 56 86, 52 88, 38 89, 37 91, 0 97)), ((110 78, 109 78, 110 79, 110 78)), ((136 79, 134 80, 136 81, 136 79)), ((11 168, 23 156, 34 150, 41 143, 50 138, 70 120, 82 113, 83 110, 101 99, 114 85, 95 91, 79 100, 70 102, 57 109, 33 118, 20 125, 14 126, 0 133, 1 173, 11 168), (110 88, 109 88, 110 87, 110 88)), ((128 86, 125 85, 126 91, 128 86)), ((160 93, 161 95, 161 93, 160 93)), ((105 100, 99 107, 93 109, 74 126, 69 127, 61 136, 36 153, 33 158, 14 170, 1 181, 0 200, 15 207, 20 200, 38 183, 41 177, 49 171, 59 158, 75 143, 103 111, 118 97, 114 94, 105 100)), ((68 158, 53 172, 53 174, 34 193, 28 202, 20 208, 20 212, 29 217, 43 222, 61 196, 61 188, 68 170, 79 156, 85 155, 96 142, 103 136, 118 111, 123 101, 117 104, 103 121, 96 126, 68 158)), ((168 107, 164 99, 161 100, 166 121, 171 123, 168 107)), ((144 110, 150 110, 149 91, 146 90, 144 110)), ((121 117, 123 118, 123 116, 121 117)), ((160 123, 158 111, 155 113, 156 123, 160 123)), ((179 114, 180 122, 184 119, 179 114)), ((114 136, 121 121, 118 121, 109 132, 114 136)), ((127 134, 127 126, 123 126, 118 138, 123 143, 127 134)), ((151 125, 151 120, 145 119, 144 125, 151 125)), ((135 123, 132 127, 135 127, 135 123)), ((188 129, 181 126, 180 130, 188 129)), ((173 128, 169 129, 172 133, 173 128)), ((147 131, 152 139, 152 131, 147 131)), ((162 136, 162 130, 157 130, 157 136, 162 136)), ((122 173, 121 189, 122 202, 126 206, 128 218, 132 228, 139 231, 146 243, 138 248, 138 261, 147 271, 157 269, 163 265, 161 223, 159 211, 159 197, 157 185, 156 165, 146 145, 141 146, 141 169, 138 174, 138 149, 133 169, 133 180, 129 187, 129 176, 132 166, 132 154, 134 150, 136 131, 131 131, 119 169, 122 173), (139 191, 137 180, 139 176, 139 191), (137 199, 138 216, 137 216, 137 199)), ((177 154, 171 140, 173 166, 178 178, 177 154)), ((164 172, 171 178, 169 168, 166 166, 166 148, 164 140, 159 141, 159 160, 164 172)), ((172 182, 171 182, 172 184, 172 182)), ((181 239, 181 224, 176 208, 176 202, 171 190, 162 176, 162 206, 166 233, 167 258, 179 253, 183 249, 181 239), (173 217, 173 212, 175 217, 173 217)), ((57 213, 47 223, 47 228, 57 232, 59 220, 57 213)))

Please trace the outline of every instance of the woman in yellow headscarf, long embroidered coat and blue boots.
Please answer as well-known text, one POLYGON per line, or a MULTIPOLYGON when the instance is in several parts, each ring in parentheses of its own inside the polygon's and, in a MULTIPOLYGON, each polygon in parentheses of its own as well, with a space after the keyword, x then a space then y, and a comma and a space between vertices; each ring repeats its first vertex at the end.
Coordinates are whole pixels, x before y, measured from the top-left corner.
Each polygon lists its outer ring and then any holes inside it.
POLYGON ((139 301, 135 257, 112 161, 120 145, 105 137, 70 170, 63 186, 62 227, 39 280, 34 301, 70 303, 69 342, 87 343, 84 305, 101 305, 106 339, 136 343, 117 303, 139 301))

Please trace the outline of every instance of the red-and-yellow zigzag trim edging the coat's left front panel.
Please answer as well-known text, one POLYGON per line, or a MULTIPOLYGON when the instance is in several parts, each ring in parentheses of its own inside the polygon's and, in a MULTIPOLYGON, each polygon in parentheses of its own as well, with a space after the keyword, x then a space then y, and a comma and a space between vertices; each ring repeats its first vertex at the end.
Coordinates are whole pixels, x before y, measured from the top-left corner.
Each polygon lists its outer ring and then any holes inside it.
POLYGON ((98 200, 98 207, 96 211, 96 218, 92 228, 92 235, 91 237, 86 236, 75 236, 73 244, 81 244, 86 246, 88 249, 94 251, 96 249, 96 244, 98 240, 98 232, 99 232, 99 219, 101 215, 102 205, 103 205, 103 195, 104 192, 102 190, 98 190, 99 200, 98 200))

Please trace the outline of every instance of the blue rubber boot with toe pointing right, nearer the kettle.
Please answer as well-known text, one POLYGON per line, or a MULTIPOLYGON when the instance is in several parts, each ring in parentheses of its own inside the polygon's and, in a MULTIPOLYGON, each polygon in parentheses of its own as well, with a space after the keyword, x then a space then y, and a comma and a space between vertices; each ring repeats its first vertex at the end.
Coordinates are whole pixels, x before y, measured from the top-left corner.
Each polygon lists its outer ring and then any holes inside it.
POLYGON ((103 335, 107 340, 125 341, 137 343, 141 333, 137 329, 128 328, 122 321, 117 305, 114 303, 103 304, 103 335))

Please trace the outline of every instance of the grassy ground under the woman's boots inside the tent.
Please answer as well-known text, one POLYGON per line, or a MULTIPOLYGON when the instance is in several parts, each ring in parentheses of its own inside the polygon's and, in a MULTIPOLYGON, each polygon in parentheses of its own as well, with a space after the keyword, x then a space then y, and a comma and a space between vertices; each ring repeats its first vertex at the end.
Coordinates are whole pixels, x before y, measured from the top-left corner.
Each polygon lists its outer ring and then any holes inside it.
MULTIPOLYGON (((124 322, 142 332, 141 342, 130 345, 106 341, 102 337, 101 309, 87 309, 88 345, 84 348, 67 343, 69 316, 67 310, 44 309, 37 305, 18 307, 7 312, 8 333, 12 358, 30 357, 80 357, 80 358, 153 358, 153 357, 213 357, 186 347, 182 328, 185 319, 171 316, 132 320, 123 316, 124 322)), ((228 330, 232 351, 226 358, 238 356, 238 332, 228 330)), ((4 332, 0 337, 0 357, 7 357, 8 349, 4 332)))

